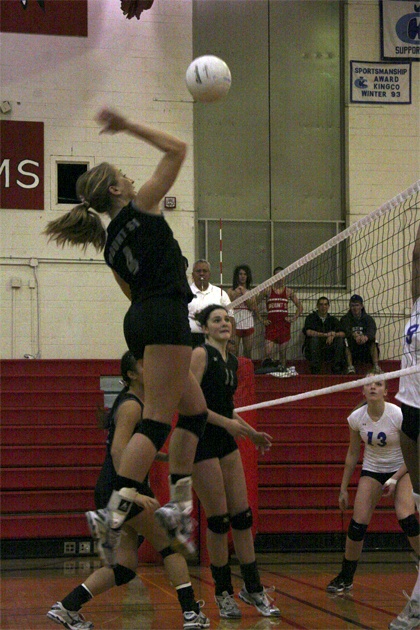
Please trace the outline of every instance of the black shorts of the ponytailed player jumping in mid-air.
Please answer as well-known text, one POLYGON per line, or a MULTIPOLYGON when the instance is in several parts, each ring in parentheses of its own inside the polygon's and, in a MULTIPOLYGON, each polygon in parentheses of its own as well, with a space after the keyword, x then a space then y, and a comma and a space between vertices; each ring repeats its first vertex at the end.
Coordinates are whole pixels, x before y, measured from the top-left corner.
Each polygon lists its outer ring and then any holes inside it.
POLYGON ((136 359, 143 358, 146 346, 191 346, 185 298, 161 295, 133 303, 124 318, 124 337, 136 359))

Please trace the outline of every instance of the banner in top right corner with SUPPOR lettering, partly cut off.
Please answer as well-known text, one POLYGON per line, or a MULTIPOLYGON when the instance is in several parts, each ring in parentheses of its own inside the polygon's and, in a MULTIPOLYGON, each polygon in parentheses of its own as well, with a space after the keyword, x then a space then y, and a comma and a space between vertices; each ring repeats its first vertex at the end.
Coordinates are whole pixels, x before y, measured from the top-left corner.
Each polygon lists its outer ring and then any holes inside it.
POLYGON ((420 60, 420 2, 380 0, 381 58, 420 60))

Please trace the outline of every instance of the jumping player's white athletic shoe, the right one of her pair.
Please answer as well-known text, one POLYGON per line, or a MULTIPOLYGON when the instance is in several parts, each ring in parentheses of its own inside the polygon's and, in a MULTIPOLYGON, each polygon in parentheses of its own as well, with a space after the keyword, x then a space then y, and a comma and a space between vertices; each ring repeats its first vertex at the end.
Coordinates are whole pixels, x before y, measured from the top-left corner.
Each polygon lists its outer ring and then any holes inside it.
POLYGON ((192 539, 194 530, 191 510, 182 510, 179 503, 170 501, 155 512, 155 518, 168 533, 172 549, 186 557, 196 553, 192 539))

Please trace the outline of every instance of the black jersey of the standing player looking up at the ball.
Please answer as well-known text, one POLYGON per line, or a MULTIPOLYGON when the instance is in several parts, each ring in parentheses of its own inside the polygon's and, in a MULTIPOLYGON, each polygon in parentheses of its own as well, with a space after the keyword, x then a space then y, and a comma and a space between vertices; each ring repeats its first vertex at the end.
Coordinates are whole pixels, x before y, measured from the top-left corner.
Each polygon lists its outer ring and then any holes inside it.
POLYGON ((207 366, 201 381, 201 389, 206 399, 207 408, 226 418, 232 418, 233 395, 238 386, 236 372, 238 359, 228 352, 225 362, 216 348, 209 344, 203 346, 207 352, 207 366))

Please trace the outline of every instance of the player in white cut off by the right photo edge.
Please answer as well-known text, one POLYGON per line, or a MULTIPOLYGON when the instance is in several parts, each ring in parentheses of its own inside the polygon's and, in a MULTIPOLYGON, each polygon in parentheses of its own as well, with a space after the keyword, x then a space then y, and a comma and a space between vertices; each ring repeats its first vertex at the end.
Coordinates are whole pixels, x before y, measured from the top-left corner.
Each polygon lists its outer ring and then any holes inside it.
MULTIPOLYGON (((411 272, 411 295, 413 308, 404 330, 401 368, 420 365, 420 226, 413 249, 411 272)), ((420 511, 420 372, 402 376, 396 398, 401 402, 403 422, 401 427, 401 449, 413 484, 413 496, 420 511)), ((391 630, 420 628, 420 573, 413 592, 404 610, 394 619, 391 630)))

